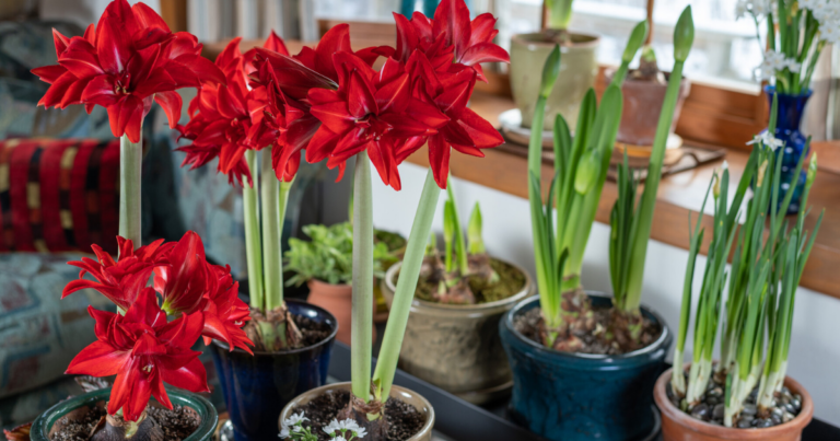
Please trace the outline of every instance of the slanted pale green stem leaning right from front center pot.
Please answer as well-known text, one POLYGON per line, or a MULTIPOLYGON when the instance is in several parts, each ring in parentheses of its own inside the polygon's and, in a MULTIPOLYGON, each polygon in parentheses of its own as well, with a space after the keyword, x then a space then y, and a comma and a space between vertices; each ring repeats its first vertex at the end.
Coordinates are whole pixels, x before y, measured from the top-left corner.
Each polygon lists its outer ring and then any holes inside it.
POLYGON ((399 359, 399 349, 402 346, 402 337, 406 334, 408 313, 415 299, 417 281, 420 278, 420 266, 423 263, 423 252, 432 230, 432 219, 434 219, 434 210, 438 207, 441 189, 434 182, 432 170, 429 169, 423 192, 420 195, 420 202, 417 206, 415 222, 411 224, 411 233, 408 236, 406 255, 402 258, 397 289, 394 292, 394 303, 390 305, 385 336, 382 339, 376 371, 373 374, 375 394, 383 402, 387 399, 390 394, 390 386, 394 384, 394 374, 397 372, 397 360, 399 359))

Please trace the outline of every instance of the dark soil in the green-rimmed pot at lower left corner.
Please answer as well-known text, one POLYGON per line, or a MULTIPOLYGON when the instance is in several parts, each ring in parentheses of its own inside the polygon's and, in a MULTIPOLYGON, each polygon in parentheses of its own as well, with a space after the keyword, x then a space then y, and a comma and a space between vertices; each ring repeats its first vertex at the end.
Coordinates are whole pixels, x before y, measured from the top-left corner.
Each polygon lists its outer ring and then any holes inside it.
MULTIPOLYGON (((91 431, 105 417, 105 407, 95 406, 77 418, 61 417, 56 425, 59 430, 50 434, 50 441, 88 441, 91 431)), ((163 441, 180 441, 198 429, 201 420, 189 407, 173 406, 172 410, 164 407, 150 406, 147 418, 153 418, 163 429, 163 441)))

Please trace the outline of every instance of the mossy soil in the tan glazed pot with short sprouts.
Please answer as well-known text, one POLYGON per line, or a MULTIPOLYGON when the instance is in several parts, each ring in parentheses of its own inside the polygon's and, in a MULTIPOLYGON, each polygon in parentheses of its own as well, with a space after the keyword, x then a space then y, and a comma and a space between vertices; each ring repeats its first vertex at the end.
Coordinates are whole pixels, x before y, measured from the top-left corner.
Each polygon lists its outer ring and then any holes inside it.
MULTIPOLYGON (((508 299, 525 288, 525 275, 513 265, 490 258, 490 267, 499 275, 499 280, 493 283, 479 275, 467 276, 467 283, 476 297, 477 304, 508 299)), ((415 295, 420 300, 434 302, 434 293, 436 292, 438 283, 421 276, 417 282, 415 295)))

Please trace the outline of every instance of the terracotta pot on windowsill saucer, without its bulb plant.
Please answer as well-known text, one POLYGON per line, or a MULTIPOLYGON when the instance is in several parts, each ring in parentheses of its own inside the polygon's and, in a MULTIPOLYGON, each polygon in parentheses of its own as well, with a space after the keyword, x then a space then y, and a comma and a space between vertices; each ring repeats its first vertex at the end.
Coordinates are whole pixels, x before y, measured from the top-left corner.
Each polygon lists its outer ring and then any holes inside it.
MULTIPOLYGON (((607 71, 606 81, 612 81, 615 70, 607 71)), ((632 71, 631 71, 632 73, 632 71)), ((665 72, 667 80, 669 73, 665 72)), ((631 146, 653 146, 653 138, 656 136, 656 125, 660 123, 662 113, 662 102, 665 100, 667 84, 660 84, 651 81, 639 81, 630 79, 628 74, 625 83, 621 84, 621 94, 625 98, 625 105, 621 109, 621 125, 618 128, 618 142, 625 142, 631 146)), ((682 103, 691 91, 691 81, 684 78, 679 83, 679 94, 677 95, 677 105, 674 107, 674 120, 670 124, 670 132, 677 127, 679 113, 682 111, 682 103)))

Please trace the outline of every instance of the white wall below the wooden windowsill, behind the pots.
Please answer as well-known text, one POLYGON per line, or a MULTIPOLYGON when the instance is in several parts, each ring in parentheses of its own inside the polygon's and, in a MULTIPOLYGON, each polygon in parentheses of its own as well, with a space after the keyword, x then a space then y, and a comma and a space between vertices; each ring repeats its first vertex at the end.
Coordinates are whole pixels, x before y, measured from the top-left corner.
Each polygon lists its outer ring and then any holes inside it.
MULTIPOLYGON (((399 193, 383 185, 377 175, 373 176, 374 225, 408 236, 427 172, 408 163, 401 165, 399 171, 402 178, 402 190, 399 193)), ((491 254, 517 263, 534 274, 527 200, 457 178, 455 197, 464 222, 476 201, 481 204, 483 236, 491 254)), ((445 199, 446 195, 442 193, 432 225, 432 230, 438 233, 443 230, 441 213, 445 199)), ((584 256, 583 283, 587 289, 611 291, 607 258, 608 237, 607 225, 596 223, 593 227, 584 256)), ((688 252, 681 248, 655 241, 648 248, 645 293, 642 301, 661 313, 672 329, 679 324, 679 304, 687 260, 688 252)), ((704 258, 698 259, 698 268, 702 268, 704 264, 704 258)), ((702 270, 696 272, 698 276, 702 275, 702 270)), ((698 277, 695 280, 695 292, 699 289, 698 277)), ((789 374, 810 392, 816 405, 815 416, 840 426, 840 379, 837 374, 840 367, 840 344, 837 340, 840 335, 840 320, 837 318, 840 316, 840 301, 801 288, 797 291, 795 307, 789 374)), ((689 348, 692 336, 689 335, 689 348)))

